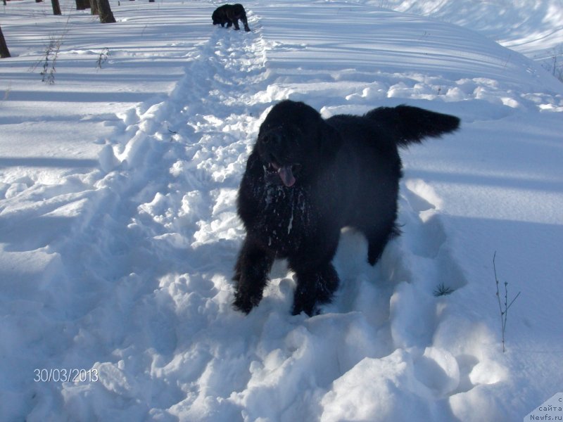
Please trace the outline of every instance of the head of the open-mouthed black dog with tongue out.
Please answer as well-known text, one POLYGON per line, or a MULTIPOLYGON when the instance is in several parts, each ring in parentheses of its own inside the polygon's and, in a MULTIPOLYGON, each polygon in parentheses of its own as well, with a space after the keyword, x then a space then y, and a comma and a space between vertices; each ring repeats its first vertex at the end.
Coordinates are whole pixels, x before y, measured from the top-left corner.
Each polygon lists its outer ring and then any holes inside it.
POLYGON ((339 136, 314 108, 281 101, 260 126, 256 151, 267 183, 305 184, 336 153, 339 136))

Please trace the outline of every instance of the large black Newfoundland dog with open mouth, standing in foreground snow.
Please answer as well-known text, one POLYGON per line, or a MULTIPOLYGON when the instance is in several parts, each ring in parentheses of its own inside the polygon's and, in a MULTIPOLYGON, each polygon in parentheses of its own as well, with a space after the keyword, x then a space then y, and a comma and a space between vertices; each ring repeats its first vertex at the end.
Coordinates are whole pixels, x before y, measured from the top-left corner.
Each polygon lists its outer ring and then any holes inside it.
POLYGON ((248 313, 258 305, 272 263, 287 258, 297 278, 293 314, 318 312, 339 284, 331 260, 342 227, 365 234, 372 265, 399 232, 398 146, 459 125, 457 117, 410 106, 327 120, 305 103, 274 106, 239 188, 246 238, 235 267, 235 307, 248 313))

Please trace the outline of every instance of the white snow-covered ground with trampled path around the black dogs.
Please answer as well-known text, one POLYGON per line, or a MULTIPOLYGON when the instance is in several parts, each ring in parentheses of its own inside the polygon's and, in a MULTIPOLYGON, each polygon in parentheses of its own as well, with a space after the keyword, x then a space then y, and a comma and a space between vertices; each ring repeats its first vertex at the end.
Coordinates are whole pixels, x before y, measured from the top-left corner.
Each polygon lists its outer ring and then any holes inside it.
POLYGON ((533 60, 561 1, 252 0, 248 33, 210 1, 61 6, 0 6, 0 420, 521 421, 563 389, 563 84, 533 60), (344 230, 312 318, 283 263, 231 307, 236 189, 284 98, 462 118, 403 151, 403 236, 372 268, 344 230))

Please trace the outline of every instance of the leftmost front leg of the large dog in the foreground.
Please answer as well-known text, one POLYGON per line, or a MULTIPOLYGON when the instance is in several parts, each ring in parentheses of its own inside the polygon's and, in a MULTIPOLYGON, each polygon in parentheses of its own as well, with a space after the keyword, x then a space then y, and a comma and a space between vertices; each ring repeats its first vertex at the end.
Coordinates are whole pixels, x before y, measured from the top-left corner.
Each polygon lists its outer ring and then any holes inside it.
POLYGON ((274 257, 255 245, 244 240, 239 259, 234 268, 234 307, 248 314, 262 300, 262 292, 267 283, 267 274, 272 269, 274 257))

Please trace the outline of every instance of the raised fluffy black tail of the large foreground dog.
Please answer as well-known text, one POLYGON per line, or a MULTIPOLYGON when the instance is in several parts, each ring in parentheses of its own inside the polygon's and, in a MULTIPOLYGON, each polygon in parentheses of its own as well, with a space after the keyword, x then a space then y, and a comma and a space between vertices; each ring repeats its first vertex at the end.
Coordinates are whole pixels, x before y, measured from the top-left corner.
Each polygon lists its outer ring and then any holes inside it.
POLYGON ((380 107, 365 117, 395 132, 398 146, 422 141, 426 136, 441 136, 460 127, 460 119, 412 106, 380 107))

